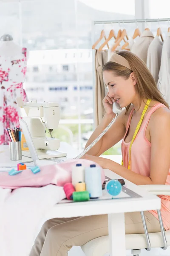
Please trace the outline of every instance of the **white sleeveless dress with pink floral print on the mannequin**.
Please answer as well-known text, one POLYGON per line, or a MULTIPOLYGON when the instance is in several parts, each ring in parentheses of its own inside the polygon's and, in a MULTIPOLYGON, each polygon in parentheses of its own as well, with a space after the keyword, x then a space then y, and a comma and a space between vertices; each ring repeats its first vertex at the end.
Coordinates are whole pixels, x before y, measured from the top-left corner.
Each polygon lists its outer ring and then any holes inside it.
POLYGON ((27 96, 23 89, 26 77, 27 49, 16 58, 0 56, 0 145, 8 144, 6 128, 19 127, 20 108, 16 98, 27 96))

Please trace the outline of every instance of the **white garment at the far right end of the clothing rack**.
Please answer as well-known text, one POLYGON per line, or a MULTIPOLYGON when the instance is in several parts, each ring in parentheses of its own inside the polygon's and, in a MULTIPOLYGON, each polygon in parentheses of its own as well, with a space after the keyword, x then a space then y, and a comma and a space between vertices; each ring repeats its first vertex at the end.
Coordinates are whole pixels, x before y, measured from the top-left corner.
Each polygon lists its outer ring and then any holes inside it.
POLYGON ((161 55, 158 88, 162 96, 170 105, 170 32, 164 41, 161 55))

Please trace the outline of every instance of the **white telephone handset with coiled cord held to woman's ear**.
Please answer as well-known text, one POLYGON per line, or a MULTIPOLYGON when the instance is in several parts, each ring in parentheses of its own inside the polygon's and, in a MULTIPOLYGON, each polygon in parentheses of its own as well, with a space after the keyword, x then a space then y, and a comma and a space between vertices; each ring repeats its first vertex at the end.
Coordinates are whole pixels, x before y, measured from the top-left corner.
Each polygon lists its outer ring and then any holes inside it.
POLYGON ((103 135, 108 131, 109 128, 113 125, 115 122, 117 116, 122 112, 122 108, 117 102, 113 102, 113 113, 116 114, 116 116, 113 118, 113 120, 110 122, 110 124, 105 128, 104 131, 94 140, 87 148, 85 148, 82 153, 80 153, 77 157, 74 159, 79 159, 80 157, 84 156, 102 137, 103 135))

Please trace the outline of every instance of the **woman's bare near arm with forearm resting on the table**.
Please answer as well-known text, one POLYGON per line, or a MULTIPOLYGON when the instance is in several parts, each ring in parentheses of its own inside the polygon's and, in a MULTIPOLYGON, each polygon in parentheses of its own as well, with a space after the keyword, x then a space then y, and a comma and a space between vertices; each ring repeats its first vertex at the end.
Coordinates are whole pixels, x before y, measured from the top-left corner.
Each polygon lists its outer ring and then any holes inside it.
POLYGON ((150 177, 128 170, 112 160, 102 157, 84 156, 83 158, 99 163, 102 168, 110 169, 136 185, 165 184, 170 169, 170 111, 161 108, 150 119, 151 163, 150 177))

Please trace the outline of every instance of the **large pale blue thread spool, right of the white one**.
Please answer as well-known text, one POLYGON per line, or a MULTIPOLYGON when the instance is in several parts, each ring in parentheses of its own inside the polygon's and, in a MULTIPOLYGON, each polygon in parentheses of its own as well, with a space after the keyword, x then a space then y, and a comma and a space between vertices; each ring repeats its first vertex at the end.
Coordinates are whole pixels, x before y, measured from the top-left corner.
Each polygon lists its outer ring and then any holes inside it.
POLYGON ((99 198, 102 196, 102 178, 101 169, 91 164, 85 168, 86 190, 90 193, 90 198, 99 198))

